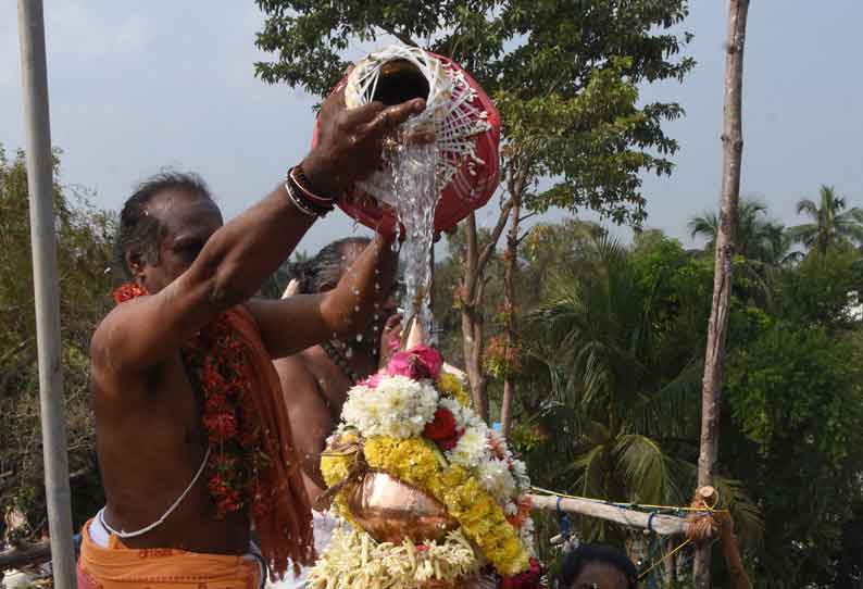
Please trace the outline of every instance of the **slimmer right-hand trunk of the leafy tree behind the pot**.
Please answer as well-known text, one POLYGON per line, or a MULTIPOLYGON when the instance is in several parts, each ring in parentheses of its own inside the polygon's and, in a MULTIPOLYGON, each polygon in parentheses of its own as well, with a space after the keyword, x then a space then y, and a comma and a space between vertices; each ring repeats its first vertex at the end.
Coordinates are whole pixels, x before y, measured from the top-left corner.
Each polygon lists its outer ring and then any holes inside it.
POLYGON ((503 262, 503 313, 506 338, 504 364, 506 368, 503 378, 503 400, 500 405, 500 427, 504 438, 509 438, 512 431, 512 404, 515 400, 515 375, 510 363, 513 355, 512 350, 518 346, 518 333, 515 325, 515 274, 518 272, 518 216, 521 214, 522 199, 521 195, 516 193, 513 195, 513 208, 510 211, 510 233, 506 236, 506 254, 503 262))

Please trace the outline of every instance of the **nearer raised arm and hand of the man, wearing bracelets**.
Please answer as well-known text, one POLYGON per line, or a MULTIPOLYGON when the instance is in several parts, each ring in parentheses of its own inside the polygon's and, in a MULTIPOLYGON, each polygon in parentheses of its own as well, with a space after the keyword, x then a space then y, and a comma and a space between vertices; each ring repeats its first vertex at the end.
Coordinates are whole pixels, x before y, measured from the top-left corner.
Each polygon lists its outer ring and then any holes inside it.
MULTIPOLYGON (((308 180, 322 193, 340 193, 376 168, 385 134, 423 108, 413 100, 347 111, 343 95, 334 95, 322 109, 320 142, 301 164, 308 180)), ((116 308, 93 335, 95 367, 139 374, 176 353, 220 313, 252 297, 312 222, 279 186, 215 231, 167 287, 116 308)))

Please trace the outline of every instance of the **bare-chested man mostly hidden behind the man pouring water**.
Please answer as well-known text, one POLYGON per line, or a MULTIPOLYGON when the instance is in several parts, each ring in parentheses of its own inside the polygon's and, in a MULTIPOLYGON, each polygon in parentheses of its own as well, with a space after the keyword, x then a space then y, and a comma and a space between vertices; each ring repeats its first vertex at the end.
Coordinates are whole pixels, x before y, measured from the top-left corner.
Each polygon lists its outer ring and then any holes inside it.
MULTIPOLYGON (((368 242, 362 237, 340 239, 311 260, 296 264, 292 275, 297 291, 314 293, 336 288, 368 242)), ((395 266, 391 270, 395 271, 395 266)), ((392 283, 391 276, 380 278, 380 285, 392 283)), ((398 341, 401 335, 401 316, 395 313, 395 290, 382 287, 377 291, 372 324, 358 338, 330 339, 274 362, 303 465, 303 483, 315 509, 314 536, 318 552, 328 543, 335 524, 324 513, 328 505, 318 501, 326 489, 320 468, 321 452, 338 424, 348 389, 378 371, 391 353, 389 342, 392 338, 398 341)), ((270 587, 303 587, 305 573, 292 575, 289 572, 286 580, 270 587)))

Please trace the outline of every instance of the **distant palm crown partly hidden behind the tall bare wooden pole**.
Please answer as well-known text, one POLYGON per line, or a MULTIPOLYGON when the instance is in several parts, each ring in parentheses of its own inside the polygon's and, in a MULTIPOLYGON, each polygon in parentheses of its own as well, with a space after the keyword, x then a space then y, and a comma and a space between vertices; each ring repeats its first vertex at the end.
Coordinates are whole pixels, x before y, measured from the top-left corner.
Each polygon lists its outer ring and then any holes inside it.
MULTIPOLYGON (((735 228, 737 252, 747 260, 768 266, 777 266, 786 261, 790 243, 785 237, 784 227, 767 218, 766 204, 751 199, 740 201, 735 228)), ((706 239, 704 251, 712 252, 720 231, 718 216, 713 211, 705 211, 701 216, 692 217, 689 231, 693 238, 706 239)))

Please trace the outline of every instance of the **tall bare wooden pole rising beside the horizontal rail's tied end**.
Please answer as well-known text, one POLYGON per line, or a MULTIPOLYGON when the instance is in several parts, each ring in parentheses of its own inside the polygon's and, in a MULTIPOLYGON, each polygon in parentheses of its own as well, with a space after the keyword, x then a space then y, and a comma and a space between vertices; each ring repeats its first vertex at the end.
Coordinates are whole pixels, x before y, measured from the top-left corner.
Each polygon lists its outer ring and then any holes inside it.
MULTIPOLYGON (((749 0, 730 0, 728 41, 725 57, 725 106, 722 133, 723 173, 722 210, 716 236, 716 262, 713 278, 713 306, 708 326, 708 349, 701 389, 701 449, 698 458, 699 487, 712 485, 720 449, 720 409, 731 293, 731 262, 735 248, 735 223, 740 193, 740 159, 743 151, 741 103, 743 86, 743 45, 749 0)), ((693 567, 698 589, 710 582, 710 546, 696 551, 693 567)))

